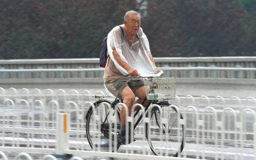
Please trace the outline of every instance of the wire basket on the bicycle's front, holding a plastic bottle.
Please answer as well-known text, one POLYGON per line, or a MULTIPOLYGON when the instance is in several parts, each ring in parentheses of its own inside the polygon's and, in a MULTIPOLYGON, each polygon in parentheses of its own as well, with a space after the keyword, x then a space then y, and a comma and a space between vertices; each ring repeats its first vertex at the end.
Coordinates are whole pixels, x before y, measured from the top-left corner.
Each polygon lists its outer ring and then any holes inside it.
POLYGON ((143 79, 148 100, 175 99, 175 78, 150 78, 143 79))

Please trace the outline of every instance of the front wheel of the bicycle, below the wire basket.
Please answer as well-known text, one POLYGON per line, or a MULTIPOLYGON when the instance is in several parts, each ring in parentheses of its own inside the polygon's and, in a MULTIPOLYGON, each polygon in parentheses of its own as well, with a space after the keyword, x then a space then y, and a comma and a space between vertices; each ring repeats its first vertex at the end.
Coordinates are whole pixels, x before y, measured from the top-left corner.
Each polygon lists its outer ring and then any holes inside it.
POLYGON ((183 117, 181 114, 178 115, 175 107, 168 107, 168 105, 162 106, 162 113, 160 117, 159 109, 152 108, 150 121, 146 125, 149 147, 155 155, 177 157, 184 147, 185 126, 178 126, 178 118, 183 119, 183 117), (168 125, 161 125, 161 118, 167 119, 168 125))

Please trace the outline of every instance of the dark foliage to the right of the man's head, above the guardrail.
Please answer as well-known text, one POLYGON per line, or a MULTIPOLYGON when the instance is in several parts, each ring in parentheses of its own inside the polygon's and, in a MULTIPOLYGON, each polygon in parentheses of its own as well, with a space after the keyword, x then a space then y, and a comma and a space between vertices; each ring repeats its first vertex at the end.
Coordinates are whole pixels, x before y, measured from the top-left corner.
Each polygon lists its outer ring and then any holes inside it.
POLYGON ((145 32, 150 33, 155 56, 236 56, 256 51, 250 40, 253 19, 233 0, 150 0, 148 6, 145 32))

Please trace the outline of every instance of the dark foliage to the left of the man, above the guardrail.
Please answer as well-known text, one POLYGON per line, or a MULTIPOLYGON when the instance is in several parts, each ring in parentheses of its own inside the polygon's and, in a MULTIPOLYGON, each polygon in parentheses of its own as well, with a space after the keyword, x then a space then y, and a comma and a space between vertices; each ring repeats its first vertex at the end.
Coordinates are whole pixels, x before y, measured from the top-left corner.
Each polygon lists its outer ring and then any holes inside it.
POLYGON ((98 57, 103 37, 134 5, 131 0, 1 0, 0 58, 98 57))

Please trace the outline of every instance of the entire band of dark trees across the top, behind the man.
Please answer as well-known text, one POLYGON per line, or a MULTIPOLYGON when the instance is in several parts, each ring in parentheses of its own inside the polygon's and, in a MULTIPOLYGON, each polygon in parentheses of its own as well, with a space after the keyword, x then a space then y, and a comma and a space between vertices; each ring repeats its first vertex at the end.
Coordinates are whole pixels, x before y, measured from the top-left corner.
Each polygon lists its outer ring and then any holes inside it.
POLYGON ((154 57, 256 55, 256 0, 0 0, 0 59, 98 58, 131 9, 154 57))

